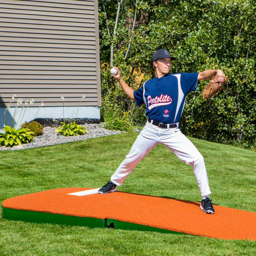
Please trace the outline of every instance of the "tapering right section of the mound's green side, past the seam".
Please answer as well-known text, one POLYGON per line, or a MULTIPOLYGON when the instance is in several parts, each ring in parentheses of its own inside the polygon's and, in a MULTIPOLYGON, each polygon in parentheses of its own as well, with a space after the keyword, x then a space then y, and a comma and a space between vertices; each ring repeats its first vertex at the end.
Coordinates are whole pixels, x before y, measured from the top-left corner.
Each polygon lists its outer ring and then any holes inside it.
POLYGON ((129 229, 129 230, 138 230, 138 231, 154 231, 154 232, 169 233, 169 234, 191 235, 183 232, 177 232, 177 231, 172 231, 172 230, 163 229, 163 228, 156 228, 156 227, 151 227, 143 224, 121 221, 117 219, 107 219, 106 224, 107 226, 116 228, 116 229, 129 229))

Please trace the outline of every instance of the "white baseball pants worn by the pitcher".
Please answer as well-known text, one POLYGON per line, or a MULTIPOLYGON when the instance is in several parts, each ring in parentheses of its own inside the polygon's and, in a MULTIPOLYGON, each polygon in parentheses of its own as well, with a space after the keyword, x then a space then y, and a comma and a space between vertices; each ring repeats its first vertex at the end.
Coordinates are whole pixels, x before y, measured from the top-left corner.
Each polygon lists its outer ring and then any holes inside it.
POLYGON ((138 135, 125 160, 111 176, 111 181, 118 186, 122 185, 134 167, 159 143, 165 145, 183 162, 193 166, 201 195, 209 195, 211 192, 204 158, 194 144, 178 128, 163 129, 149 122, 138 135))

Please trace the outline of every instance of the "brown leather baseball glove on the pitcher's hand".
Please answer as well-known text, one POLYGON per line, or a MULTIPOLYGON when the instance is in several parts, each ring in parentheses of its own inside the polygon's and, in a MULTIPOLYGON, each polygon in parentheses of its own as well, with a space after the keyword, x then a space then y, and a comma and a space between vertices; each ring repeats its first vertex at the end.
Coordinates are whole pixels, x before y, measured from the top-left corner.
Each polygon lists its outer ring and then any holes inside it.
POLYGON ((214 75, 211 81, 205 86, 202 96, 205 99, 211 98, 214 94, 216 94, 223 84, 227 81, 227 77, 222 75, 214 75))

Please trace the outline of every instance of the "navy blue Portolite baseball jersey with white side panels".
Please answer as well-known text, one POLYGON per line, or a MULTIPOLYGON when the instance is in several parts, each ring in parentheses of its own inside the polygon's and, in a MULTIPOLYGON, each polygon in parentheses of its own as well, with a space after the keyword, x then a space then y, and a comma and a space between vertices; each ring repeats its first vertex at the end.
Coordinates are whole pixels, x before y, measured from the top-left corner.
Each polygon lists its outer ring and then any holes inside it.
POLYGON ((146 116, 164 124, 179 122, 186 96, 196 90, 199 73, 166 74, 147 80, 134 91, 136 105, 146 103, 146 116))

